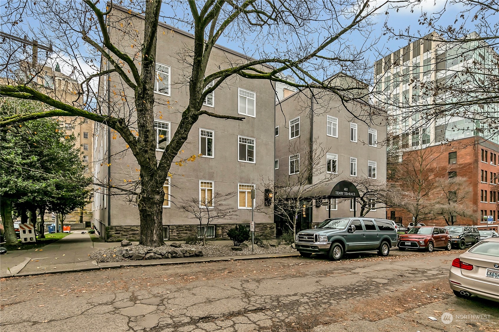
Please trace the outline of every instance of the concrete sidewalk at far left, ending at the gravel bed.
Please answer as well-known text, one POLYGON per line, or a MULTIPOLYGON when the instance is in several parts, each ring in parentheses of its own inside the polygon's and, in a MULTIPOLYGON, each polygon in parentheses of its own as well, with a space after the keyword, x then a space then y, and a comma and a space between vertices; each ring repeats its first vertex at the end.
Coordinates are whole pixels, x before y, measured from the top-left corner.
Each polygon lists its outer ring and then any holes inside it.
POLYGON ((94 250, 88 233, 74 232, 41 248, 1 255, 0 277, 97 268, 88 257, 94 250))

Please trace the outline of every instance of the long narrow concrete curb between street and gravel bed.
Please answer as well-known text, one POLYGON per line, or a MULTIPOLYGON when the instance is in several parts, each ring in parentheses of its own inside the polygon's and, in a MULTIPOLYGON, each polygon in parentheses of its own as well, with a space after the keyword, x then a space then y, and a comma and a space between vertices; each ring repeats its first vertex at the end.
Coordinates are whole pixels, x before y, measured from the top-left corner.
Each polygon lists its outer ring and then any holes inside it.
MULTIPOLYGON (((97 267, 87 267, 81 269, 71 269, 71 270, 61 270, 61 271, 50 271, 50 272, 33 272, 33 273, 18 273, 14 275, 6 275, 1 278, 13 278, 13 277, 28 277, 36 275, 46 275, 46 274, 58 274, 58 273, 69 273, 69 272, 81 272, 81 271, 95 271, 104 269, 119 269, 122 267, 129 266, 155 266, 155 265, 176 265, 176 264, 193 264, 193 263, 207 263, 207 262, 224 262, 224 261, 235 261, 235 260, 250 260, 250 259, 267 259, 267 258, 285 258, 285 257, 298 257, 300 254, 295 251, 285 254, 267 254, 267 255, 246 255, 246 256, 219 256, 219 257, 198 257, 200 259, 189 260, 182 258, 170 258, 161 259, 160 262, 154 262, 153 260, 142 260, 142 261, 125 261, 125 262, 103 262, 97 267), (174 261, 174 259, 179 259, 174 261), (109 264, 109 265, 105 265, 109 264)), ((160 260, 160 259, 157 259, 160 260)), ((99 264, 99 263, 97 263, 99 264)))

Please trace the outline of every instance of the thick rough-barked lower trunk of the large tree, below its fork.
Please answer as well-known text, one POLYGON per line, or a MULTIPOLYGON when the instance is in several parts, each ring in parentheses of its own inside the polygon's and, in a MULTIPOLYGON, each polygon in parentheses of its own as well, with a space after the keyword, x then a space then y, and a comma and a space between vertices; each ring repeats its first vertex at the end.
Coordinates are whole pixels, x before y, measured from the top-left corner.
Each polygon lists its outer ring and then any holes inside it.
POLYGON ((163 184, 153 184, 154 180, 142 178, 142 191, 139 195, 140 244, 160 247, 163 241, 163 184), (149 180, 149 181, 148 181, 149 180), (151 184, 146 186, 145 184, 151 184))

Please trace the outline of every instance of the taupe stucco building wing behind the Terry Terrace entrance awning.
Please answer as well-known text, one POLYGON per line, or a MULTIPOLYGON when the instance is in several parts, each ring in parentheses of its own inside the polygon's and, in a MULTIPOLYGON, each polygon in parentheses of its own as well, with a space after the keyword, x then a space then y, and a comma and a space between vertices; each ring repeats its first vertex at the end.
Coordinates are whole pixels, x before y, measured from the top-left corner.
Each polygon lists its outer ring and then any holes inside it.
MULTIPOLYGON (((334 80, 336 86, 344 87, 360 83, 342 73, 330 80, 334 80)), ((361 179, 369 179, 383 184, 386 181, 386 146, 380 142, 385 139, 386 113, 383 110, 363 101, 343 105, 339 97, 327 92, 297 91, 276 106, 275 183, 305 187, 326 179, 324 186, 334 186, 342 180, 355 184, 361 179), (303 170, 313 174, 307 174, 306 184, 296 184, 303 170)), ((330 205, 327 200, 316 201, 298 217, 296 231, 310 228, 329 216, 354 215, 352 199, 330 199, 330 205)), ((359 216, 359 203, 355 210, 359 216)), ((385 209, 373 209, 366 217, 385 218, 385 209)), ((275 220, 277 235, 280 235, 286 229, 282 224, 285 221, 278 217, 275 220)))

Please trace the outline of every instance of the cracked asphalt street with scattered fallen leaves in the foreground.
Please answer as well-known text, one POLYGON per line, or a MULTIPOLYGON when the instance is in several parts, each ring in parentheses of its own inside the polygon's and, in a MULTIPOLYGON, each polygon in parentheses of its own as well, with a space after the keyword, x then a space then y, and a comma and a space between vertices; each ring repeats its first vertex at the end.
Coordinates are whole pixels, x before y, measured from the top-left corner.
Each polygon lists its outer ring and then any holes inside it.
POLYGON ((450 291, 449 266, 459 253, 392 251, 338 262, 292 257, 2 279, 0 330, 499 332, 497 303, 450 291), (445 325, 442 312, 490 317, 445 325))

